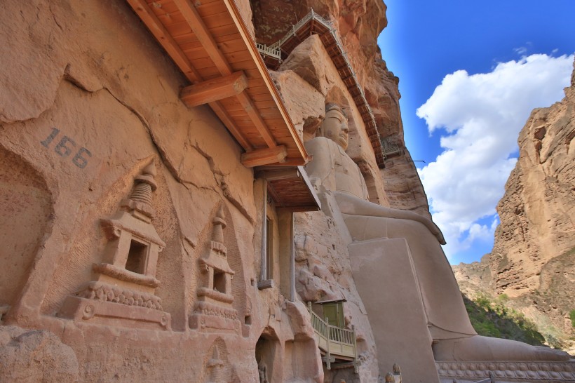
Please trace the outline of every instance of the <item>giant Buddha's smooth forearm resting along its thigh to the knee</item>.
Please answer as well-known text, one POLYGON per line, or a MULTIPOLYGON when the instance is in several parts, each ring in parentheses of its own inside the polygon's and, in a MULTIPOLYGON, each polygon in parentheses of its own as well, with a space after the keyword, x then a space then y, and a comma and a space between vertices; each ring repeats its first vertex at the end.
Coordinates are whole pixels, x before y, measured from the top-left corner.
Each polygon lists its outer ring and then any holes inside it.
POLYGON ((431 234, 438 238, 438 241, 445 245, 445 238, 441 230, 433 221, 428 220, 426 217, 422 217, 417 213, 413 213, 409 210, 399 210, 386 208, 385 206, 377 205, 369 201, 364 201, 363 199, 358 199, 356 196, 350 196, 348 194, 337 193, 337 204, 341 213, 350 215, 368 215, 372 217, 386 217, 386 218, 399 218, 402 220, 412 220, 421 222, 424 224, 431 234))

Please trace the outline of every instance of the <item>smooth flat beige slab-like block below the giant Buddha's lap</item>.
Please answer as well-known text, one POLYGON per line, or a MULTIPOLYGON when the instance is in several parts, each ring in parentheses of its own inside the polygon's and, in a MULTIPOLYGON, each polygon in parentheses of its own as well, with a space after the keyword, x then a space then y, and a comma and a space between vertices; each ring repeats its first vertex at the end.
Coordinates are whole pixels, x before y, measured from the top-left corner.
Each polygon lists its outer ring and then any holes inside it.
POLYGON ((398 363, 405 382, 439 382, 407 241, 352 243, 349 256, 353 280, 372 325, 380 373, 398 363))

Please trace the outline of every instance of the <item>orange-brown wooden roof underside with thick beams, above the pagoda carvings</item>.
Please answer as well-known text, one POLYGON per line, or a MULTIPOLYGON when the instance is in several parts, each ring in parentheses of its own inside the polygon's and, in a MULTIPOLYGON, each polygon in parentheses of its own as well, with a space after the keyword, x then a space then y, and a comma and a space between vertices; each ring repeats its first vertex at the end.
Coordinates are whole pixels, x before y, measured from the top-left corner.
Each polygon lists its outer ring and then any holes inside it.
POLYGON ((127 0, 245 153, 245 166, 297 166, 309 155, 234 0, 127 0))

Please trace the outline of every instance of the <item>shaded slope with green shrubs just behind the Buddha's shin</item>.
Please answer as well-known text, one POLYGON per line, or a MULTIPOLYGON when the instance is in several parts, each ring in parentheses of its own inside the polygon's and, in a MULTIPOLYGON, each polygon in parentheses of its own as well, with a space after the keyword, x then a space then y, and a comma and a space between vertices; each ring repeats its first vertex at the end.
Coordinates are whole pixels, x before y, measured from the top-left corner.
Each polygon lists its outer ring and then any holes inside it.
POLYGON ((466 295, 463 298, 471 324, 479 335, 517 340, 534 346, 542 346, 545 342, 535 323, 505 307, 504 295, 496 302, 485 295, 478 295, 475 300, 470 300, 466 295))

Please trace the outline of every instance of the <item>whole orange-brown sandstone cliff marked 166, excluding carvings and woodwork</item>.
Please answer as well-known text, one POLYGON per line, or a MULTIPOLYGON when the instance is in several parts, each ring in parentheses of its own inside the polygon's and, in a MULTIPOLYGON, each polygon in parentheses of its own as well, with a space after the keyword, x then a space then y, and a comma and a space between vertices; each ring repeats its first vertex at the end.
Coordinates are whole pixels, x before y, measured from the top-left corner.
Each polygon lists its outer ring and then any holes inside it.
MULTIPOLYGON (((248 29, 263 42, 283 35, 310 6, 334 20, 381 135, 403 146, 398 80, 375 42, 386 25, 381 1, 238 3, 244 17, 253 15, 248 29)), ((296 302, 286 298, 289 267, 281 262, 287 256, 273 265, 279 286, 257 288, 266 224, 262 180, 242 165, 241 148, 210 108, 182 103, 179 91, 188 82, 128 4, 13 0, 3 6, 0 261, 6 267, 0 269, 0 323, 18 327, 0 328, 2 361, 22 370, 37 357, 46 365, 38 374, 47 381, 207 382, 217 380, 212 375, 218 367, 220 381, 255 382, 255 354, 264 343, 273 354, 267 361, 273 382, 321 382, 324 376, 377 381, 374 337, 351 276, 351 238, 342 222, 321 212, 295 215, 296 302), (102 262, 109 239, 102 220, 118 211, 152 162, 152 224, 165 243, 154 294, 170 315, 170 328, 147 318, 128 318, 128 325, 126 317, 93 320, 90 307, 82 318, 65 316, 62 307, 91 281, 93 264, 102 262), (230 311, 237 315, 234 328, 203 332, 190 318, 207 280, 198 264, 220 210, 234 271, 230 311), (358 335, 358 374, 353 368, 324 372, 303 304, 341 298, 346 325, 358 335), (57 369, 51 375, 50 366, 57 369)), ((300 44, 272 76, 304 138, 315 134, 325 102, 346 108, 350 155, 372 201, 426 213, 413 166, 377 167, 353 98, 317 36, 300 44)), ((271 218, 283 220, 274 209, 271 218)), ((271 236, 280 237, 275 230, 271 236)), ((124 293, 111 289, 98 299, 116 304, 126 298, 119 295, 124 293)), ((230 316, 213 315, 222 321, 230 316)), ((393 361, 387 362, 391 370, 393 361)))

